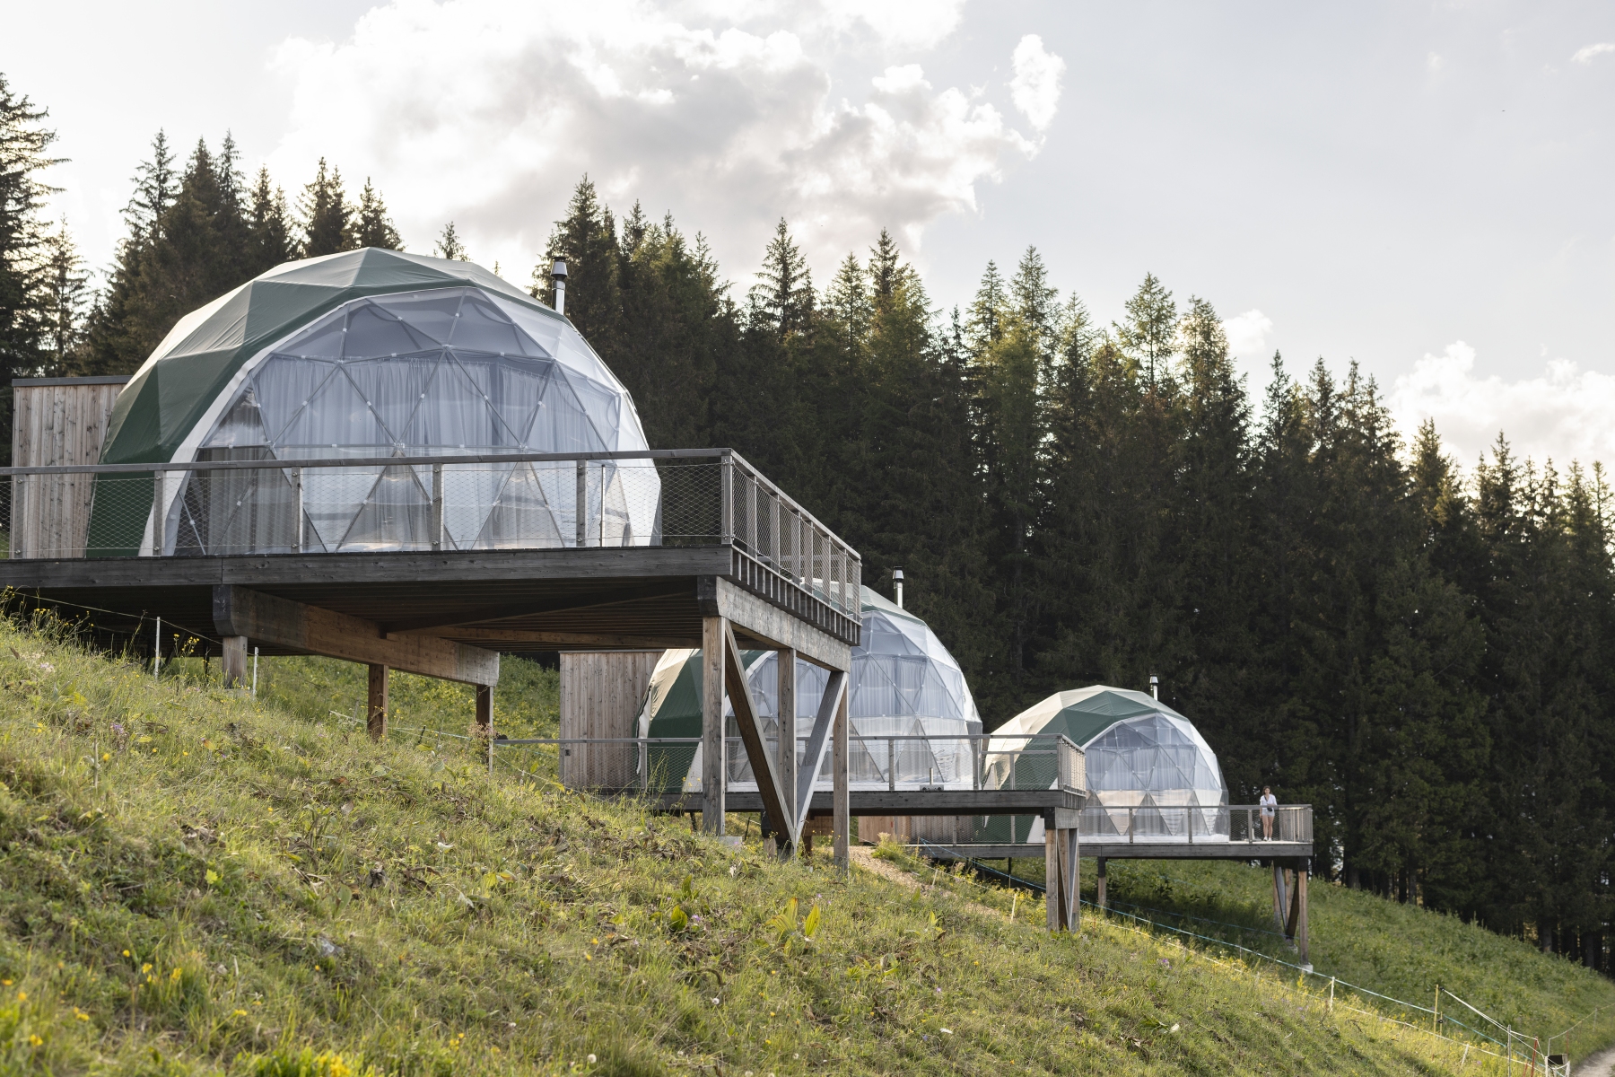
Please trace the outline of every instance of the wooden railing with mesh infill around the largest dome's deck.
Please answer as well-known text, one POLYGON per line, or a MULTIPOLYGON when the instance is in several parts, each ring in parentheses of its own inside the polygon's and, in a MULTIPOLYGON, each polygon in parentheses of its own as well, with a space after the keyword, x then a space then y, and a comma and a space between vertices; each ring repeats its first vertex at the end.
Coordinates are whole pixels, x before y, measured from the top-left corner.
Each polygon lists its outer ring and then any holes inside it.
MULTIPOLYGON (((239 452, 239 450, 237 450, 239 452)), ((851 546, 732 449, 0 468, 13 559, 725 544, 854 622, 851 546)), ((756 581, 754 581, 756 583, 756 581)))

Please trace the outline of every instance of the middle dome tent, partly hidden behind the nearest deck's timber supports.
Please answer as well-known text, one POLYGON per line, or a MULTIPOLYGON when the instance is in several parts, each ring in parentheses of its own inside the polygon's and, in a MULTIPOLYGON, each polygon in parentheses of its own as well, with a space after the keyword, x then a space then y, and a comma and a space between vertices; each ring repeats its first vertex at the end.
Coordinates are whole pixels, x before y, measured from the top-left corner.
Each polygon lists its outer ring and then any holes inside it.
MULTIPOLYGON (((975 699, 964 683, 964 670, 930 627, 883 596, 861 588, 862 643, 853 647, 851 757, 848 777, 856 786, 888 780, 925 782, 948 788, 971 788, 971 744, 963 736, 982 731, 975 699), (861 744, 859 736, 924 736, 922 741, 895 741, 888 756, 885 743, 861 744), (959 738, 959 740, 953 740, 959 738), (891 773, 895 770, 895 775, 891 773)), ((746 651, 741 656, 751 696, 764 715, 764 735, 778 733, 778 652, 746 651)), ((806 738, 824 698, 828 673, 808 662, 796 662, 796 731, 806 738)), ((725 709, 733 715, 733 709, 725 709)), ((701 735, 701 652, 667 651, 651 675, 651 689, 640 714, 641 736, 701 735)), ((730 783, 746 788, 756 778, 745 752, 730 757, 730 783), (735 757, 738 756, 738 757, 735 757)), ((699 749, 665 746, 651 749, 651 773, 665 775, 683 788, 699 783, 699 749)), ((828 764, 819 775, 828 786, 828 764)))

